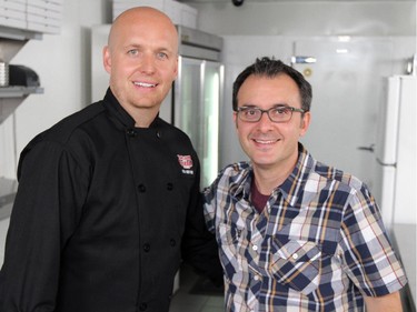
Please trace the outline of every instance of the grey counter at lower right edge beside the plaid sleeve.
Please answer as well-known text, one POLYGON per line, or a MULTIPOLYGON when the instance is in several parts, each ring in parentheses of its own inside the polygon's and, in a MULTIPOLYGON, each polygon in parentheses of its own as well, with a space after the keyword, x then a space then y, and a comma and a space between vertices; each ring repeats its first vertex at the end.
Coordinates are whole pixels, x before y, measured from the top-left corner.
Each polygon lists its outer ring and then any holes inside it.
POLYGON ((416 224, 394 224, 393 244, 407 274, 408 285, 403 292, 408 301, 408 310, 416 311, 416 224))

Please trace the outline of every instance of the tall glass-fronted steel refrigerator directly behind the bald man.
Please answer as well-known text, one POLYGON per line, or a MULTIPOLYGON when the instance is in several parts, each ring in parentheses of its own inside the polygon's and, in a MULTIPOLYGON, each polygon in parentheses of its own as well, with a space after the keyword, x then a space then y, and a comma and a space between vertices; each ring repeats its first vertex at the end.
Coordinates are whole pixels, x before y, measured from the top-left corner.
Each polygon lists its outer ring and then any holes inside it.
MULTIPOLYGON (((219 111, 224 97, 222 38, 177 26, 179 71, 160 109, 160 117, 185 131, 199 155, 201 188, 217 177, 219 162, 219 111)), ((102 48, 109 24, 91 29, 91 100, 101 100, 109 85, 102 68, 102 48)))

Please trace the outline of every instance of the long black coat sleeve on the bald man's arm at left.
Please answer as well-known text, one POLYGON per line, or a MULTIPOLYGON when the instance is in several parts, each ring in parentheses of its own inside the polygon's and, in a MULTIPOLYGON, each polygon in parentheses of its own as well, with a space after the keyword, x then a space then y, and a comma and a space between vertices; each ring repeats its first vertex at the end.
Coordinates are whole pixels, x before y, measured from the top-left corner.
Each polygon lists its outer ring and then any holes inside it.
POLYGON ((60 144, 23 151, 0 273, 0 311, 54 311, 60 252, 76 228, 87 179, 60 144))

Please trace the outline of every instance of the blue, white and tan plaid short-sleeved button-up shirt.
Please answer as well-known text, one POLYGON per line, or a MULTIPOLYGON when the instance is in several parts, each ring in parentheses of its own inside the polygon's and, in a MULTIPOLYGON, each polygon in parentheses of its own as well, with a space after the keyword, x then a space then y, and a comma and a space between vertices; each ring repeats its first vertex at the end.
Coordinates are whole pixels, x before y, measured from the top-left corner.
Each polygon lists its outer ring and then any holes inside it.
POLYGON ((248 162, 228 165, 205 191, 227 311, 364 311, 363 293, 407 282, 367 187, 299 151, 261 213, 250 203, 248 162))

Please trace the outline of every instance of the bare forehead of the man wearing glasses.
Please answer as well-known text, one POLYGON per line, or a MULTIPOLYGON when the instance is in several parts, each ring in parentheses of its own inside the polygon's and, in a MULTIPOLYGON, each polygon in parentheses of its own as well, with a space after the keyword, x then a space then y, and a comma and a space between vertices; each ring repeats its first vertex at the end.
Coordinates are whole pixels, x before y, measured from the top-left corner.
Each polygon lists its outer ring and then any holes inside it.
POLYGON ((300 92, 297 83, 287 74, 276 77, 249 76, 237 94, 238 105, 269 108, 288 104, 300 108, 300 92))

